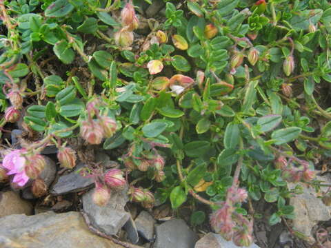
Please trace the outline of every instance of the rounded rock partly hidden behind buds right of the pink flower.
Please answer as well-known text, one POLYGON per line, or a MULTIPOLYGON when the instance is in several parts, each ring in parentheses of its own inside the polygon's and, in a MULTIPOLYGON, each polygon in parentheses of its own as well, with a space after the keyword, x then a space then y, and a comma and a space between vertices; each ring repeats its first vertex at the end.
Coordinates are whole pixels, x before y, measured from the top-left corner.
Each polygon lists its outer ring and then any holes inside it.
MULTIPOLYGON (((44 158, 46 159, 46 165, 39 177, 45 181, 47 187, 50 187, 57 175, 57 165, 48 156, 44 156, 44 158)), ((22 189, 22 197, 27 200, 38 198, 32 194, 31 187, 22 189)))

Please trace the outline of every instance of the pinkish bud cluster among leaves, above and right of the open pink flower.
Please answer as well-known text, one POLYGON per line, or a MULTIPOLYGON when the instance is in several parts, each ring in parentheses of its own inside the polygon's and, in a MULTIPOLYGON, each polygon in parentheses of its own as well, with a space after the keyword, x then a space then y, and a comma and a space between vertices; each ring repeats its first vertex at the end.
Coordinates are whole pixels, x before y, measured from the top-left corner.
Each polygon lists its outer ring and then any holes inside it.
POLYGON ((101 101, 93 99, 86 105, 88 119, 81 121, 81 136, 92 145, 98 145, 103 138, 110 138, 117 129, 117 123, 108 115, 100 114, 101 101), (94 119, 94 116, 97 119, 94 119))

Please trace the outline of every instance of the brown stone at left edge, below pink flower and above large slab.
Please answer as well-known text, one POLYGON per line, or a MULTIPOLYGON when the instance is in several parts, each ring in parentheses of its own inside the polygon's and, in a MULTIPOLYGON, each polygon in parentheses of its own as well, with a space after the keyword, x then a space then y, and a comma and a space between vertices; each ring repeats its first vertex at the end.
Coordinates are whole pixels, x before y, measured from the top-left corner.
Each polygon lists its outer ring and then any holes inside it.
POLYGON ((21 199, 16 192, 0 192, 0 218, 10 214, 31 215, 33 208, 31 203, 21 199))

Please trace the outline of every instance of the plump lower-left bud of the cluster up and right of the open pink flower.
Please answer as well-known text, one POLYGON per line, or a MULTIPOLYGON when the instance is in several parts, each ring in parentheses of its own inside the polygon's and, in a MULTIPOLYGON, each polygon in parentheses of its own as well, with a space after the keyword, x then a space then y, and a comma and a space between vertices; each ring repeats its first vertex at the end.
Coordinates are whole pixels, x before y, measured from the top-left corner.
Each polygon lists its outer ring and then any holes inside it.
POLYGON ((98 145, 103 138, 103 128, 97 121, 82 121, 81 136, 92 145, 98 145))

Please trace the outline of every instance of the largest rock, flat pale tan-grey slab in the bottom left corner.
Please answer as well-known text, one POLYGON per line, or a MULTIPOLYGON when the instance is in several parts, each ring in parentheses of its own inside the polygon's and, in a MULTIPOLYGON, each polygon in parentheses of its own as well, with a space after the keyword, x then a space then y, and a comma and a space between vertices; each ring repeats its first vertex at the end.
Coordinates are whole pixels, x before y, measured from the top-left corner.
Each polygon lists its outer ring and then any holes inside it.
POLYGON ((48 211, 34 216, 14 214, 0 218, 0 226, 0 247, 123 248, 92 234, 81 214, 74 211, 63 214, 48 211))

